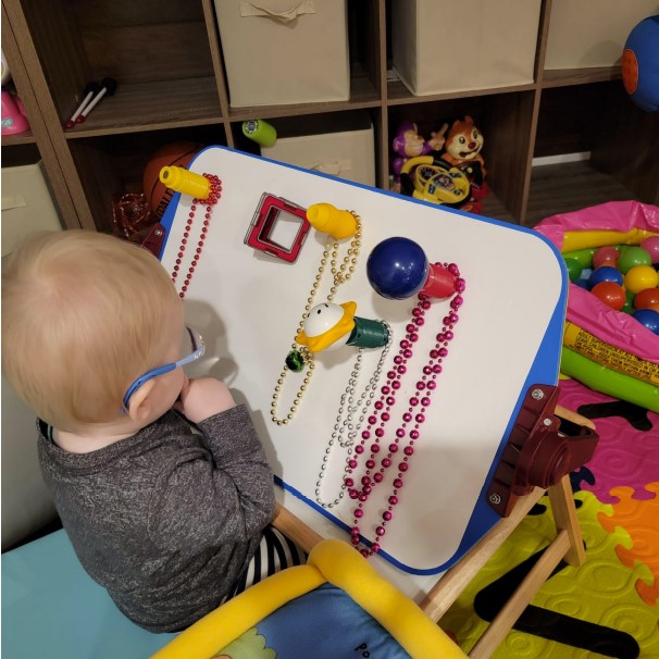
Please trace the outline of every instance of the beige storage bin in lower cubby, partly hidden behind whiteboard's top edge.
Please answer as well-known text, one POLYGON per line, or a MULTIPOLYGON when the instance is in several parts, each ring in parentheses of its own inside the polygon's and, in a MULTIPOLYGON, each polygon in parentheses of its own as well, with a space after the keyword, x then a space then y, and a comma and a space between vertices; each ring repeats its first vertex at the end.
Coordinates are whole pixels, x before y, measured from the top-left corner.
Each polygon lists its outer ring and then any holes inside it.
POLYGON ((261 148, 261 156, 375 187, 373 126, 368 115, 350 129, 277 138, 274 146, 261 148))

